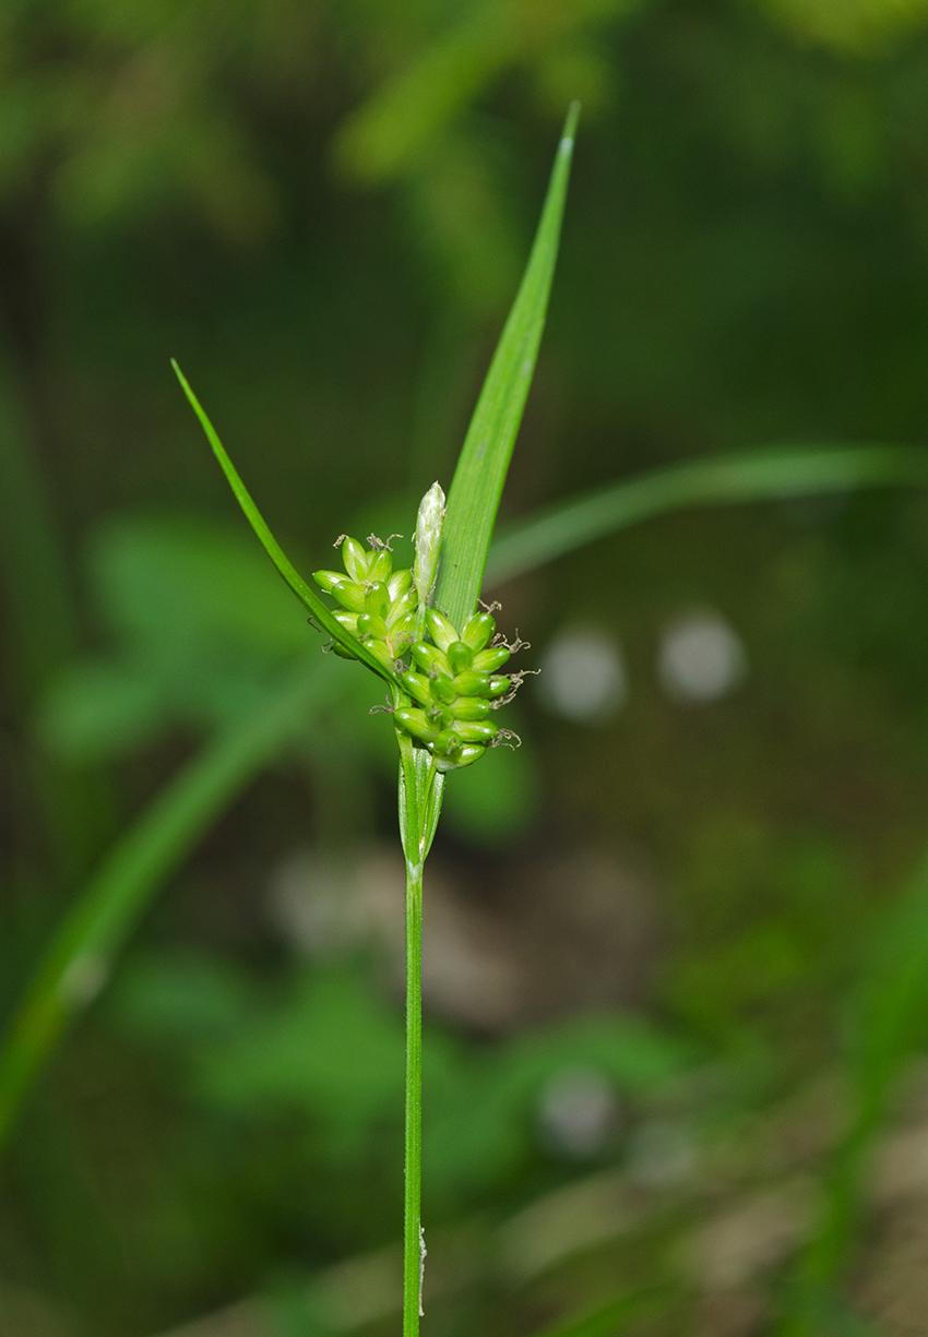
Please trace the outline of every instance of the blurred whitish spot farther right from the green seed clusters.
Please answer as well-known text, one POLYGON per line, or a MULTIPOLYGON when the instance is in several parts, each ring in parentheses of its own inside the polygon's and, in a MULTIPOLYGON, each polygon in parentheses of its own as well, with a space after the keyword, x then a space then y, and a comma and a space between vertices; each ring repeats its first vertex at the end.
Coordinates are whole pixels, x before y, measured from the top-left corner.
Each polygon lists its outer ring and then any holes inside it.
POLYGON ((717 612, 690 612, 665 630, 658 677, 674 701, 718 701, 738 686, 746 670, 741 636, 717 612))

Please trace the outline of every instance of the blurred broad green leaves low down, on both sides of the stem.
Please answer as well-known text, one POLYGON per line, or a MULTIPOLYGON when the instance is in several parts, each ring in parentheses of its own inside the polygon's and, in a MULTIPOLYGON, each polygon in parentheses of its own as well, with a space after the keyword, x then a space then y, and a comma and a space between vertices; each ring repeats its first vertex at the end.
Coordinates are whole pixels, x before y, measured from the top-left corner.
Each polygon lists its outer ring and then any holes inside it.
MULTIPOLYGON (((356 969, 316 968, 277 1000, 250 995, 245 981, 234 985, 209 960, 150 960, 127 976, 115 1007, 135 1035, 183 1051, 195 1098, 214 1116, 234 1119, 239 1136, 263 1126, 294 1138, 296 1154, 310 1162, 304 1174, 329 1181, 330 1199, 314 1207, 318 1229, 344 1215, 342 1191, 349 1199, 366 1193, 370 1215, 388 1227, 397 1169, 389 1148, 402 1132, 398 1008, 356 969), (374 1205, 372 1177, 381 1178, 384 1165, 393 1170, 374 1205)), ((505 1191, 527 1161, 552 1151, 558 1159, 540 1107, 559 1074, 594 1070, 616 1098, 635 1098, 678 1076, 686 1059, 679 1043, 610 1016, 528 1032, 489 1051, 432 1031, 424 1175, 436 1225, 505 1191)), ((603 1150, 614 1136, 618 1130, 603 1150)))

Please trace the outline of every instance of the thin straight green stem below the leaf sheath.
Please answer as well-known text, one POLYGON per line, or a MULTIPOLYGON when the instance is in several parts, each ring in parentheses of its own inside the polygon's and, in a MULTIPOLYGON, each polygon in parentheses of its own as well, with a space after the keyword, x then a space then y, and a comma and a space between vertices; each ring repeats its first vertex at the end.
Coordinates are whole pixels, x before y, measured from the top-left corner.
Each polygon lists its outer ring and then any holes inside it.
POLYGON ((425 1246, 423 1190, 423 865, 407 860, 407 1135, 402 1337, 419 1337, 425 1246))

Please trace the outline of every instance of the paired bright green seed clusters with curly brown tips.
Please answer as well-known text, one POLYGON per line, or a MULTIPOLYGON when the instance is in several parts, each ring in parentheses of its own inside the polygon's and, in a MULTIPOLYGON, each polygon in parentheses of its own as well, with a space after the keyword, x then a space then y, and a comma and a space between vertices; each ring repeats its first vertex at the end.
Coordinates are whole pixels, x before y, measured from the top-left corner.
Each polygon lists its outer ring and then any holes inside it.
MULTIPOLYGON (((376 543, 365 548, 350 537, 342 543, 342 559, 346 574, 316 571, 313 579, 341 606, 336 620, 398 673, 409 699, 400 697, 394 706, 397 729, 427 747, 439 770, 469 766, 487 747, 509 738, 491 713, 511 699, 520 675, 497 673, 513 647, 495 636, 491 614, 475 614, 459 635, 437 608, 429 608, 424 626, 431 644, 416 638, 419 594, 412 571, 393 571, 388 548, 376 543), (407 652, 412 668, 402 662, 407 652)), ((334 650, 350 658, 341 646, 334 650)))

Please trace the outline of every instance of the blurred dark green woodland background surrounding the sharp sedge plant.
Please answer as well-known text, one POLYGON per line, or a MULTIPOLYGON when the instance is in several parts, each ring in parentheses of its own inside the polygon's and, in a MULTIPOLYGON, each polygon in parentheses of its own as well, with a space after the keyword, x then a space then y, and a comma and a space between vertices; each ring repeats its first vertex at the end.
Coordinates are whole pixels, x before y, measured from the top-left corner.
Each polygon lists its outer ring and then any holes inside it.
MULTIPOLYGON (((179 813, 12 1128, 3 1337, 398 1330, 390 731, 168 358, 302 570, 408 535, 572 98, 503 521, 921 443, 924 0, 0 8, 7 1015, 179 813)), ((928 496, 671 516, 493 594, 543 674, 427 885, 424 1332, 928 1333, 928 496)))

